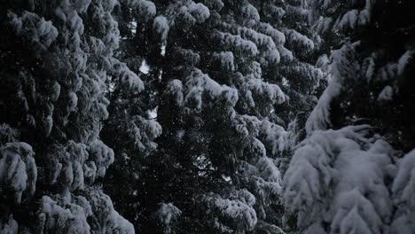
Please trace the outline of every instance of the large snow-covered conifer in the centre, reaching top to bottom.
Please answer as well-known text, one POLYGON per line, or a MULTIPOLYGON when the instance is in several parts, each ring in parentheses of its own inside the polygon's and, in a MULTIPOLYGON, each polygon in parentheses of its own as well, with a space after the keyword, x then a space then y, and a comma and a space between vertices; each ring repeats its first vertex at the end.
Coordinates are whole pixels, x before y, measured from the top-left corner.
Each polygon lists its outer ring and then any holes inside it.
MULTIPOLYGON (((278 229, 266 225, 264 207, 278 206, 279 171, 259 138, 277 134, 262 126, 272 126, 266 118, 286 97, 277 85, 264 81, 262 68, 278 63, 278 45, 280 50, 284 46, 260 31, 253 4, 204 4, 173 5, 180 14, 167 18, 172 25, 166 57, 182 59, 163 68, 162 78, 170 81, 159 106, 166 134, 160 145, 183 165, 182 173, 192 171, 185 176, 193 177, 185 181, 190 188, 175 195, 191 195, 184 200, 190 199, 191 206, 176 202, 183 212, 180 230, 189 225, 186 215, 192 222, 199 219, 200 227, 190 231, 278 229), (181 38, 186 40, 176 45, 181 38)), ((273 27, 267 29, 273 33, 273 27)), ((277 127, 278 134, 286 134, 277 127)))

